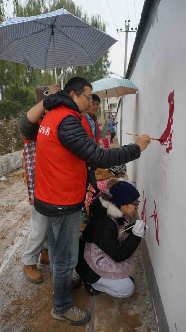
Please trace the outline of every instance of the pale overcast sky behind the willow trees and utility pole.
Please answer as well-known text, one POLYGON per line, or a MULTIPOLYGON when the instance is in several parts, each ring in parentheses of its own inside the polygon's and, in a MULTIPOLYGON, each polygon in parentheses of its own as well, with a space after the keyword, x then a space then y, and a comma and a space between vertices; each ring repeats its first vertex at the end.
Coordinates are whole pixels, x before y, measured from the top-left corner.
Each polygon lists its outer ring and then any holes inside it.
MULTIPOLYGON (((23 1, 21 1, 23 2, 23 1)), ((101 19, 107 24, 107 33, 117 39, 118 41, 110 48, 110 71, 121 76, 124 74, 124 53, 125 53, 125 33, 117 33, 116 29, 125 30, 125 20, 130 20, 130 27, 138 28, 144 0, 74 0, 76 5, 81 5, 83 10, 88 13, 88 16, 99 14, 101 19), (110 6, 110 8, 109 8, 110 6), (112 12, 112 13, 111 13, 112 12)), ((13 4, 12 0, 5 1, 5 10, 12 16, 13 4)), ((130 60, 133 44, 136 33, 128 34, 128 52, 127 52, 127 66, 130 60)), ((96 47, 96 45, 95 45, 96 47)), ((114 77, 115 75, 111 75, 114 77)), ((116 76, 117 77, 117 76, 116 76)))

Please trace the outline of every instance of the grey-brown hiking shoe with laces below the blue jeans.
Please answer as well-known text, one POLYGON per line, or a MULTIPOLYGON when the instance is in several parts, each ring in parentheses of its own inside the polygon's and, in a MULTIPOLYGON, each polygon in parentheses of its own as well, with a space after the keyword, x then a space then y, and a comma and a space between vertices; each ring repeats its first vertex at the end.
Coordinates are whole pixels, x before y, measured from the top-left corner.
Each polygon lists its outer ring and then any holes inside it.
POLYGON ((75 305, 73 305, 70 310, 63 313, 58 313, 53 307, 51 315, 55 319, 66 320, 66 322, 72 325, 84 325, 90 320, 88 312, 75 307, 75 305))

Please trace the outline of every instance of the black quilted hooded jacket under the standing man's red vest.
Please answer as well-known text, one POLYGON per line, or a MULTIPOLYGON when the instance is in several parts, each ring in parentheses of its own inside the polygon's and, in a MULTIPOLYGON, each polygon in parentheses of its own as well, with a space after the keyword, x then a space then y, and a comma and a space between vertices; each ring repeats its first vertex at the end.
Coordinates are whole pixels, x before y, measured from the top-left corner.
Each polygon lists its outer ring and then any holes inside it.
MULTIPOLYGON (((63 90, 54 95, 47 96, 43 101, 46 110, 64 105, 76 111, 79 109, 73 99, 63 90)), ((102 149, 97 143, 88 136, 83 128, 81 121, 76 117, 68 116, 64 118, 58 126, 57 135, 60 143, 75 156, 85 161, 89 165, 99 168, 107 168, 128 163, 140 157, 140 147, 137 144, 128 144, 112 149, 102 149)), ((62 169, 63 165, 61 165, 62 169)), ((78 176, 78 174, 77 174, 78 176)), ((34 198, 34 206, 43 215, 55 216, 65 215, 81 209, 82 202, 76 205, 59 206, 41 202, 34 198)))

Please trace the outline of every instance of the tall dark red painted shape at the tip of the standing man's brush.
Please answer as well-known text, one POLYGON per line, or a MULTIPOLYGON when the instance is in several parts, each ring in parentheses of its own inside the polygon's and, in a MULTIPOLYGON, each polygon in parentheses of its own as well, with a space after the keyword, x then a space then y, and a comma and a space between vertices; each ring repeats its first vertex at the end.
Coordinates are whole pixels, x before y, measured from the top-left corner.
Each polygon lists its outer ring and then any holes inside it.
POLYGON ((162 133, 161 137, 159 138, 160 144, 165 145, 166 152, 169 153, 169 151, 172 149, 172 132, 171 125, 173 124, 173 113, 174 113, 174 90, 172 93, 168 96, 168 103, 169 103, 169 117, 168 117, 168 123, 165 131, 162 133))

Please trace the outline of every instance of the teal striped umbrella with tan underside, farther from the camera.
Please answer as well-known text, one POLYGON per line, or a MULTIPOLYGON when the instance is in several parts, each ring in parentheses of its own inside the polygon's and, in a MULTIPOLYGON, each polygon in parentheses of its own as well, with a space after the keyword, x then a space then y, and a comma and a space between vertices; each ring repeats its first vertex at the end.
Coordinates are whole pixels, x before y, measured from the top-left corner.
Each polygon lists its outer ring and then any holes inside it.
POLYGON ((123 78, 103 78, 91 84, 92 93, 100 99, 130 95, 138 90, 133 82, 123 78))

